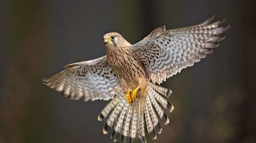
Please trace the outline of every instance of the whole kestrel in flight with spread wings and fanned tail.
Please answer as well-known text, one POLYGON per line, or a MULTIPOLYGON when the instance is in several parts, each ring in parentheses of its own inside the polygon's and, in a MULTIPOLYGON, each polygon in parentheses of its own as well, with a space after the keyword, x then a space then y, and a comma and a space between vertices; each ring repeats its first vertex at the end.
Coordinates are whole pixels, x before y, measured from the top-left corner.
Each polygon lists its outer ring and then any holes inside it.
POLYGON ((112 99, 98 120, 106 120, 103 133, 112 131, 114 142, 147 142, 145 127, 156 139, 163 131, 160 121, 169 123, 165 110, 174 109, 166 99, 172 91, 159 84, 219 46, 230 25, 219 27, 226 18, 211 23, 213 18, 185 28, 159 27, 134 45, 119 33, 107 33, 105 56, 69 64, 42 82, 72 100, 112 99))

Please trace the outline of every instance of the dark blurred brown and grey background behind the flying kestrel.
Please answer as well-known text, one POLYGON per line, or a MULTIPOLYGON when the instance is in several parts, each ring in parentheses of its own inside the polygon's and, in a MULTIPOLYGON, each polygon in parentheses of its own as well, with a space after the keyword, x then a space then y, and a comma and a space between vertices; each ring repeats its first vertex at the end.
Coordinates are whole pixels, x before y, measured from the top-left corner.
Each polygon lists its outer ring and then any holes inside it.
POLYGON ((256 142, 256 1, 0 1, 0 142, 113 142, 97 120, 109 101, 71 101, 41 84, 67 64, 106 54, 103 35, 134 44, 165 25, 216 14, 231 27, 205 59, 162 84, 170 123, 151 143, 256 142))

